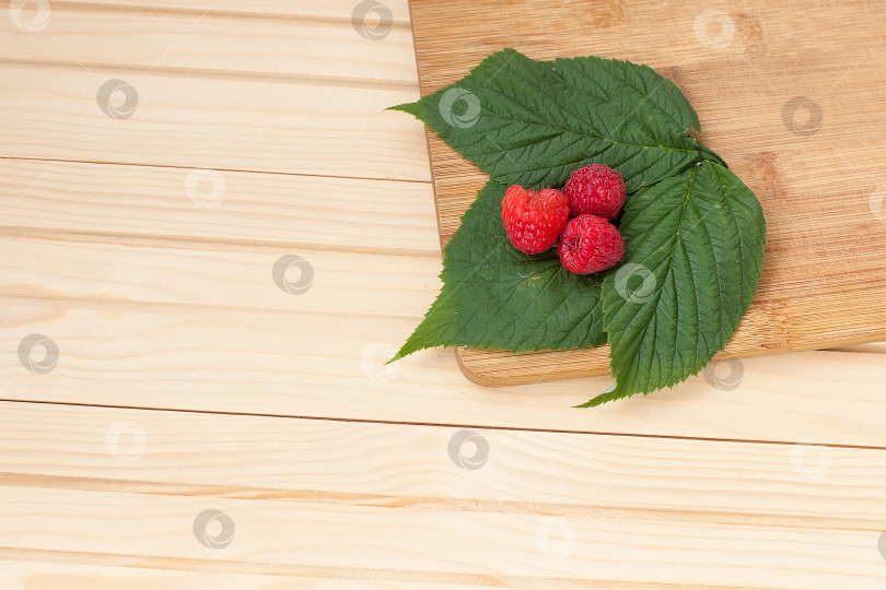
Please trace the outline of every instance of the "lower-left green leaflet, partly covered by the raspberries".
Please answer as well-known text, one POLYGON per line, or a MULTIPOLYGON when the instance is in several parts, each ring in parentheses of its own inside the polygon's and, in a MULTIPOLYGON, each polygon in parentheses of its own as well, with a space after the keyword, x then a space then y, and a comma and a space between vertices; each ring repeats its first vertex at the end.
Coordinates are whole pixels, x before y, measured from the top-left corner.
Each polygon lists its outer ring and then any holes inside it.
POLYGON ((445 249, 443 290, 392 361, 432 346, 521 352, 605 342, 602 279, 567 271, 556 249, 514 248, 501 221, 505 189, 488 182, 462 217, 445 249))

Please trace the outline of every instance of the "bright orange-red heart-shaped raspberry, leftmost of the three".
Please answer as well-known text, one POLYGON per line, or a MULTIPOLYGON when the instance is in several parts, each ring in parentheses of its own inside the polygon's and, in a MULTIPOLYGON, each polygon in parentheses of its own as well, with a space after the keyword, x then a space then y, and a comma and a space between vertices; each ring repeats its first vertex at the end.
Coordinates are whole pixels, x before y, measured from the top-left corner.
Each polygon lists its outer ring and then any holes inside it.
POLYGON ((514 248, 526 253, 544 252, 557 243, 569 219, 569 199, 556 189, 537 192, 514 185, 504 191, 501 219, 514 248))

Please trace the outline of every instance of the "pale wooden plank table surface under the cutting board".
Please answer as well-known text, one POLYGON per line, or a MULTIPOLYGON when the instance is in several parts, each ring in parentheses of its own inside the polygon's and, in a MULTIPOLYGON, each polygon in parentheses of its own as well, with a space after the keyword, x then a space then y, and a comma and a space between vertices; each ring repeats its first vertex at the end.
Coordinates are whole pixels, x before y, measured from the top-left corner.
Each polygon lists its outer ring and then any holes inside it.
POLYGON ((8 8, 0 588, 886 585, 884 344, 590 411, 381 366, 440 287, 406 0, 8 8))

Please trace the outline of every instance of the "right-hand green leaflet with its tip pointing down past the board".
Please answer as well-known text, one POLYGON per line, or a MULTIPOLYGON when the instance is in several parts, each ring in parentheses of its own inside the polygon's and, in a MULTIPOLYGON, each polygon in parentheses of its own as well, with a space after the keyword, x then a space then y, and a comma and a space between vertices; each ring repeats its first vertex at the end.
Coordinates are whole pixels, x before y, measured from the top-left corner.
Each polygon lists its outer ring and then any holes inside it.
POLYGON ((617 386, 585 406, 671 387, 725 346, 760 276, 766 222, 757 198, 704 161, 631 196, 625 258, 603 285, 617 386))

